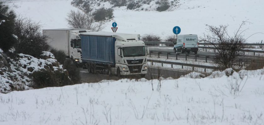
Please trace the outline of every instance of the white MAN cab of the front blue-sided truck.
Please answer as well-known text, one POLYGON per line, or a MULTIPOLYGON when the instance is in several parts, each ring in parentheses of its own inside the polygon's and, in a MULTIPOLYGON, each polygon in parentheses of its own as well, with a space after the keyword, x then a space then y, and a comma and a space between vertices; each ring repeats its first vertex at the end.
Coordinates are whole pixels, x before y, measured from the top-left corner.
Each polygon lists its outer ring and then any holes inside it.
POLYGON ((147 73, 148 53, 145 43, 139 40, 139 36, 134 38, 117 37, 115 43, 116 67, 120 75, 140 75, 147 73))

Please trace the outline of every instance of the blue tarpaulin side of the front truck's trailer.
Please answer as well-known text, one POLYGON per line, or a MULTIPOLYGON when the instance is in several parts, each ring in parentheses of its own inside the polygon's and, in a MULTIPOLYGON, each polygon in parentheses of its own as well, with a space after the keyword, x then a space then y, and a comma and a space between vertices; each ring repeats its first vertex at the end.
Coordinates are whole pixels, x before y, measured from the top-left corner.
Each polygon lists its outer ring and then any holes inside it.
POLYGON ((81 35, 83 62, 115 65, 115 40, 108 36, 81 35))

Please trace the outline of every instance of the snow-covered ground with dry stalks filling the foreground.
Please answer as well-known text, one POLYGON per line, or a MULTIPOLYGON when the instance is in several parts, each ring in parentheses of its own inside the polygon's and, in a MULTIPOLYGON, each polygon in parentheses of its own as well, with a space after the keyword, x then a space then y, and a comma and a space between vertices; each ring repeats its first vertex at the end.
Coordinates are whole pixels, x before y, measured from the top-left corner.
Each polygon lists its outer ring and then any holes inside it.
POLYGON ((232 72, 227 69, 196 79, 121 79, 0 93, 0 123, 263 124, 264 69, 232 72))

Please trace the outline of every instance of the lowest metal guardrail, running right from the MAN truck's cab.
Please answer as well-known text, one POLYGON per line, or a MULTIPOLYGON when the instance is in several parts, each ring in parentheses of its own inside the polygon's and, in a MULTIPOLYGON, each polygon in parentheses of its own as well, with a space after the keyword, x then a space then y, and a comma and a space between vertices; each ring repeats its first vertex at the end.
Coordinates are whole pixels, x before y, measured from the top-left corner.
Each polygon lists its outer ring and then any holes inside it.
POLYGON ((190 64, 190 63, 180 63, 180 62, 171 62, 171 61, 162 61, 162 60, 154 60, 154 59, 148 59, 148 62, 151 62, 151 65, 153 65, 153 63, 163 63, 164 64, 171 64, 171 67, 173 68, 173 65, 181 65, 182 68, 183 66, 189 66, 192 67, 192 70, 194 71, 194 68, 204 68, 204 71, 206 72, 206 69, 216 69, 216 66, 208 66, 208 65, 198 65, 198 64, 190 64))

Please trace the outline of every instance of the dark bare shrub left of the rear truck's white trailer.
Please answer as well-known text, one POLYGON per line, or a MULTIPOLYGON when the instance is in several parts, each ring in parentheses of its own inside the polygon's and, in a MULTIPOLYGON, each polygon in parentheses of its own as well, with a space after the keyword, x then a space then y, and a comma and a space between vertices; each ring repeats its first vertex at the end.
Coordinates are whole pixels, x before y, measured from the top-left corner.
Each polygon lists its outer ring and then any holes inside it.
POLYGON ((42 26, 27 17, 18 17, 15 21, 15 34, 18 42, 14 46, 16 53, 38 57, 49 49, 47 36, 42 34, 42 26))

